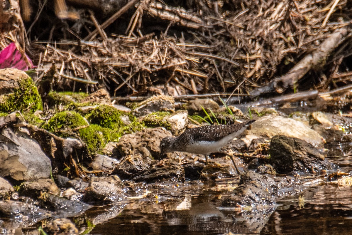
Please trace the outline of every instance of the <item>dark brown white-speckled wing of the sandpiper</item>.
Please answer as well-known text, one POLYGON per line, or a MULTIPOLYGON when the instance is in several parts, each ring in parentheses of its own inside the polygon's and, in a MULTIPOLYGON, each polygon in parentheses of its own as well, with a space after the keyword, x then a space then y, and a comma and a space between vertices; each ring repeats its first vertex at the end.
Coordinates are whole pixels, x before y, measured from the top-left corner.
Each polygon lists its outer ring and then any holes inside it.
POLYGON ((193 140, 190 142, 197 141, 218 141, 231 133, 240 130, 244 126, 249 126, 255 120, 249 120, 247 122, 233 124, 233 125, 211 125, 211 126, 200 126, 197 128, 191 128, 183 132, 180 136, 192 136, 193 140))

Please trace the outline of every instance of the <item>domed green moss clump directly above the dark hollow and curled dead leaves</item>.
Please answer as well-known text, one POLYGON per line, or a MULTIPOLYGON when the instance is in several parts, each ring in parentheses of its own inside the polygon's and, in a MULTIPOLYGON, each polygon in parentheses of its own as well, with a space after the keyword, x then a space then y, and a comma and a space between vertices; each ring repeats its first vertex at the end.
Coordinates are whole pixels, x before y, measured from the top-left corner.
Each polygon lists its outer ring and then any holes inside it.
POLYGON ((67 132, 87 124, 87 121, 78 113, 72 111, 63 111, 55 114, 52 118, 50 118, 47 123, 42 125, 42 128, 50 132, 61 132, 59 135, 67 137, 69 136, 67 132))

